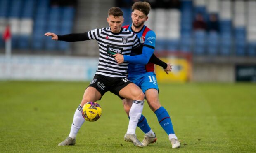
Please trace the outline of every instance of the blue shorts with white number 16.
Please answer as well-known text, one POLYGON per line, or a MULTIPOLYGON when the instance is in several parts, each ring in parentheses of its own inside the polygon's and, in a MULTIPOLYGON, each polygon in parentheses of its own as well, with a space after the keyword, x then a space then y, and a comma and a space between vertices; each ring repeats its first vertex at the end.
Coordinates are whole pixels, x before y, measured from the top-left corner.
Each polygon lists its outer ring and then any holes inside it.
POLYGON ((158 90, 156 74, 154 72, 147 72, 145 74, 133 76, 128 75, 128 80, 139 86, 142 89, 143 93, 145 93, 146 90, 152 88, 158 90))

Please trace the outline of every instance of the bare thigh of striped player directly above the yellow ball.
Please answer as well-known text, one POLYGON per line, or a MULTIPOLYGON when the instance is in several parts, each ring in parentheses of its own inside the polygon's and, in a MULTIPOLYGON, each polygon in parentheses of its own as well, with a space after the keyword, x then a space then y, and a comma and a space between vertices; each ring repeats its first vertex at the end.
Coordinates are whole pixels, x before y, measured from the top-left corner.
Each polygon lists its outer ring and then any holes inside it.
POLYGON ((86 90, 83 94, 81 106, 83 107, 83 105, 86 102, 96 102, 97 100, 100 100, 101 97, 102 97, 102 95, 96 88, 89 86, 88 88, 86 88, 86 90))

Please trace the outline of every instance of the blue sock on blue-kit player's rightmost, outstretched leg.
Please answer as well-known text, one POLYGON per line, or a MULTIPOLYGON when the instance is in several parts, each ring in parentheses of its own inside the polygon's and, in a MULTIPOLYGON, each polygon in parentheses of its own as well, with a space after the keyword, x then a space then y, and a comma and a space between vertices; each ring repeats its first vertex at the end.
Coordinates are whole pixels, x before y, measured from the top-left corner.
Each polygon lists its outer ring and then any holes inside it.
POLYGON ((171 118, 166 109, 164 109, 164 107, 160 107, 155 111, 155 114, 157 116, 159 124, 165 130, 165 132, 168 135, 175 134, 173 130, 173 124, 171 123, 171 118))

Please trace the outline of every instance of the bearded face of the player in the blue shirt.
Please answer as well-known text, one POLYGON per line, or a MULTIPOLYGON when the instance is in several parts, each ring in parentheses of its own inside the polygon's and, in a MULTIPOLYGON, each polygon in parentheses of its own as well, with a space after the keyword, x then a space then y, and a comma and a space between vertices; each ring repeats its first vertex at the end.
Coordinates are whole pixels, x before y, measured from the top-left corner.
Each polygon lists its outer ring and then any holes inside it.
POLYGON ((144 25, 144 22, 147 21, 148 17, 141 11, 135 9, 132 13, 133 26, 139 28, 144 25))

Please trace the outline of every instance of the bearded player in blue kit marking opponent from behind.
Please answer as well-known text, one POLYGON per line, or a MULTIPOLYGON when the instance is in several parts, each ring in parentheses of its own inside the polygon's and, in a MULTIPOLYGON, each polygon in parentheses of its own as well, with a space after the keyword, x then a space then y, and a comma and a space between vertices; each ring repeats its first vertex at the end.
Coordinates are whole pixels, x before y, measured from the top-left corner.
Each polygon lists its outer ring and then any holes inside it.
MULTIPOLYGON (((158 62, 157 65, 162 66, 167 74, 172 65, 170 65, 170 63, 166 65, 166 63, 162 61, 138 64, 139 60, 143 61, 142 59, 151 57, 152 55, 154 56, 153 53, 155 49, 156 34, 154 31, 150 30, 147 28, 147 26, 144 25, 144 22, 148 19, 147 15, 149 14, 149 11, 149 3, 135 2, 132 7, 132 24, 123 26, 123 28, 133 31, 140 38, 140 42, 143 44, 143 54, 132 52, 130 54, 131 56, 121 54, 116 54, 114 56, 119 64, 123 62, 129 63, 128 80, 132 81, 142 89, 143 93, 145 93, 145 99, 147 100, 149 107, 152 109, 152 111, 154 111, 158 118, 159 124, 168 134, 172 148, 179 148, 180 142, 178 141, 178 138, 173 130, 171 118, 166 109, 164 109, 164 107, 161 106, 159 102, 158 85, 156 81, 156 74, 154 73, 154 63, 158 62)), ((123 100, 123 106, 128 116, 131 105, 132 100, 123 100)), ((156 141, 156 135, 149 127, 145 116, 141 115, 137 126, 140 127, 140 129, 145 133, 144 139, 142 141, 143 146, 147 146, 148 144, 154 143, 156 141)))

